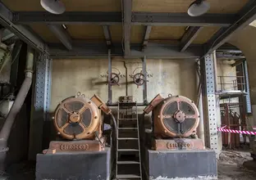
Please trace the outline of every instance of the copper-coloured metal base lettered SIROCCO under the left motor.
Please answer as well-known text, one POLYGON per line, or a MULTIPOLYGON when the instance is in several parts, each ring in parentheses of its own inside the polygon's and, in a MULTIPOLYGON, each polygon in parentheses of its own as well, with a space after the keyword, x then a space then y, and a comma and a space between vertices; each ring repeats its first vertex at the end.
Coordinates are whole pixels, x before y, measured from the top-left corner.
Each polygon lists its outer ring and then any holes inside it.
POLYGON ((50 142, 49 148, 43 150, 43 154, 55 154, 63 152, 82 152, 82 151, 104 151, 105 138, 101 138, 101 142, 92 140, 82 141, 54 141, 50 142), (101 143, 103 142, 103 144, 101 143))

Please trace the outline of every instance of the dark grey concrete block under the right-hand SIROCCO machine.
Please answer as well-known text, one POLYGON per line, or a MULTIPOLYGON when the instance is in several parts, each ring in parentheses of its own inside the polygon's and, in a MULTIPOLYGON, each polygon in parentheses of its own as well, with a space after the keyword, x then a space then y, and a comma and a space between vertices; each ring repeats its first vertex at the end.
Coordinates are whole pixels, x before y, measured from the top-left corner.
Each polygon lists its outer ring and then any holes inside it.
POLYGON ((217 178, 214 151, 151 151, 147 150, 143 164, 144 179, 217 178))

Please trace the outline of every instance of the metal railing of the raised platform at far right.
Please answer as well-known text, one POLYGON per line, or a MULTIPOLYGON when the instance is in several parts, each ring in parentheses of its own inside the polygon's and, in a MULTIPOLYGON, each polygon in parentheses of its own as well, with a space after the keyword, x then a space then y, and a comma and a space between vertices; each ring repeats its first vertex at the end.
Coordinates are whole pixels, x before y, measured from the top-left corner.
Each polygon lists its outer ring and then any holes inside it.
POLYGON ((217 91, 245 92, 245 76, 217 76, 217 91))

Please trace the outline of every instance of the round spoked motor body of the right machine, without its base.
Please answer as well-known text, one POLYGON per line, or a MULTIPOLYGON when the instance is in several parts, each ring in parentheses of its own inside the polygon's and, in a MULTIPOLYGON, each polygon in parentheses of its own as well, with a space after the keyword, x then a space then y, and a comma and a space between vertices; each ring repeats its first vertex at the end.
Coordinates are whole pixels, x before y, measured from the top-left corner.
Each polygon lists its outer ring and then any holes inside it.
POLYGON ((155 137, 190 137, 199 125, 199 110, 187 97, 168 97, 153 110, 155 137))

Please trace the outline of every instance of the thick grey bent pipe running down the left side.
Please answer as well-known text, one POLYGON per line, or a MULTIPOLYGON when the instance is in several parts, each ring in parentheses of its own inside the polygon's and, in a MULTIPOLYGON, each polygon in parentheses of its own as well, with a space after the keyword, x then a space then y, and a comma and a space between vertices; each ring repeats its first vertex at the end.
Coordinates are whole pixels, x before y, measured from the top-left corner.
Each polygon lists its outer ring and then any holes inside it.
POLYGON ((27 93, 30 90, 30 86, 32 83, 32 75, 33 75, 33 65, 34 65, 34 51, 31 47, 28 47, 26 65, 25 65, 25 80, 21 85, 21 89, 17 94, 16 100, 11 106, 11 110, 7 115, 7 119, 5 120, 0 132, 0 140, 4 142, 4 145, 2 146, 7 146, 6 143, 11 133, 11 127, 14 124, 16 115, 20 112, 21 107, 25 101, 25 97, 27 96, 27 93))

